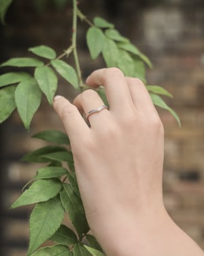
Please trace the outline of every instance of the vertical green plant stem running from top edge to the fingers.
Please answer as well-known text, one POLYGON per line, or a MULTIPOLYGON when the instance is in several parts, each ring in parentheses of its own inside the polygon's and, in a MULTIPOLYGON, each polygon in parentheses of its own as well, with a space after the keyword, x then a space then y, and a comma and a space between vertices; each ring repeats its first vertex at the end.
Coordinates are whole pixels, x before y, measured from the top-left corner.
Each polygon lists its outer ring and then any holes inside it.
POLYGON ((78 74, 79 79, 79 85, 82 87, 83 81, 82 81, 82 72, 80 69, 80 61, 78 58, 78 51, 77 51, 77 20, 78 20, 78 5, 77 0, 73 0, 73 27, 72 27, 72 46, 73 46, 73 57, 75 61, 75 68, 78 74))

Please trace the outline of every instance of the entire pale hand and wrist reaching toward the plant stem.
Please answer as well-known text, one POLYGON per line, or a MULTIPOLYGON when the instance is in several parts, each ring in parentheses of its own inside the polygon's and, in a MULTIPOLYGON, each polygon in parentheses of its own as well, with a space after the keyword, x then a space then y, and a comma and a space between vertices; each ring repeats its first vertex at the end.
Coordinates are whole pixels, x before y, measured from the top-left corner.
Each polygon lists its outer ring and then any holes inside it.
POLYGON ((203 256, 167 214, 163 203, 163 124, 145 85, 118 68, 92 72, 86 84, 103 85, 109 110, 92 89, 73 104, 54 98, 71 141, 88 224, 107 256, 203 256))

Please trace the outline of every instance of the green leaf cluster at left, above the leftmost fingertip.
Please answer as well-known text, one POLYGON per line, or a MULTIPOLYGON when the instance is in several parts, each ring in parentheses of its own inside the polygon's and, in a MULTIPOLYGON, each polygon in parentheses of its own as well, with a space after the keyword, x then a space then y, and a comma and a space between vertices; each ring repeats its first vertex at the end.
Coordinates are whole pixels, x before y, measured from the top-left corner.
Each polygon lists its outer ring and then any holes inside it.
POLYGON ((1 64, 1 67, 34 68, 34 75, 31 76, 29 72, 8 72, 0 76, 0 124, 17 109, 22 123, 28 129, 39 108, 42 94, 52 105, 58 85, 56 72, 78 88, 75 69, 62 59, 56 59, 52 48, 41 45, 29 48, 29 51, 49 62, 44 63, 33 57, 16 57, 1 64))

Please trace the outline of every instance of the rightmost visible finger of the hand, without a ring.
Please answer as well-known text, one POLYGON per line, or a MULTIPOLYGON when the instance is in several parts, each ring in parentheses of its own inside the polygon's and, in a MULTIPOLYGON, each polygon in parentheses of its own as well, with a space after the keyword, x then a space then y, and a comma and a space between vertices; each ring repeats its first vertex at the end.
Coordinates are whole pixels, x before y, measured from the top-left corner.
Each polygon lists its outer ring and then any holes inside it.
POLYGON ((126 77, 126 83, 129 86, 131 97, 137 110, 144 113, 152 113, 152 111, 157 113, 150 98, 150 94, 148 93, 146 86, 141 80, 137 78, 126 77))

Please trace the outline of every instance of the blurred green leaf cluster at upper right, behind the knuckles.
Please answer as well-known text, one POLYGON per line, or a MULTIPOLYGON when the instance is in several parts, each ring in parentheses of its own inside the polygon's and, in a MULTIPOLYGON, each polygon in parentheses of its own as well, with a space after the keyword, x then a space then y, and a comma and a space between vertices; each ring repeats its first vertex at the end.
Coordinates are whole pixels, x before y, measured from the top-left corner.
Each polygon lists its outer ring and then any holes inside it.
MULTIPOLYGON (((86 40, 92 59, 96 59, 102 54, 108 68, 118 67, 125 76, 141 79, 150 92, 152 102, 156 106, 169 111, 180 126, 180 118, 177 113, 175 113, 159 95, 170 98, 173 96, 163 87, 147 85, 145 65, 152 68, 150 59, 141 53, 128 38, 121 35, 112 23, 107 22, 107 20, 103 18, 95 17, 92 27, 90 27, 86 33, 86 40)), ((103 91, 99 91, 99 94, 104 98, 103 91)))

